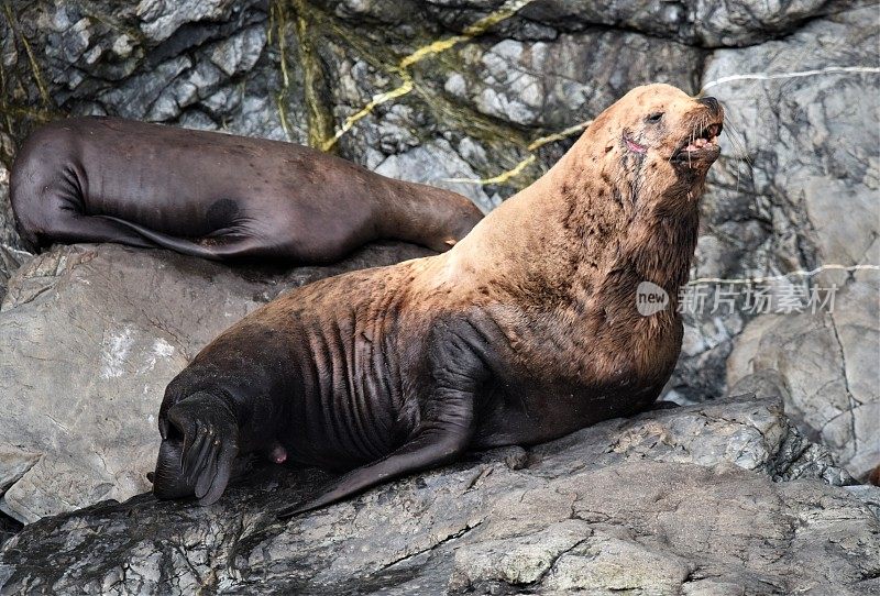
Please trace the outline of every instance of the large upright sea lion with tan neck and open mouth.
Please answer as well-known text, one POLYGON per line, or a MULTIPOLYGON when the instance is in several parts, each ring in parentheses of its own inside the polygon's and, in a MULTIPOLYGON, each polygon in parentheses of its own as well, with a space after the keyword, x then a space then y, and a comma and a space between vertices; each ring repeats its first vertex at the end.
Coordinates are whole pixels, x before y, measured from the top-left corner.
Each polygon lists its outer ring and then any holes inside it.
POLYGON ((634 89, 448 253, 245 317, 168 385, 155 494, 213 503, 254 451, 354 468, 290 515, 648 409, 681 349, 678 290, 722 121, 713 98, 634 89), (639 314, 642 282, 668 308, 639 314))

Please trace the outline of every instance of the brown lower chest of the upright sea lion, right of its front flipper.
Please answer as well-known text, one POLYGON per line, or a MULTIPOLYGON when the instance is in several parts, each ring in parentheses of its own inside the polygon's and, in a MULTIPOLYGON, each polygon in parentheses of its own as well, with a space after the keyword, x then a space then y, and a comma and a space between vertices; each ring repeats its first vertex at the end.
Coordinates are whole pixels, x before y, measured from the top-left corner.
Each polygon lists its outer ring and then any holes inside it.
POLYGON ((681 322, 618 327, 530 321, 510 331, 507 366, 486 389, 484 443, 537 443, 646 409, 681 347, 681 322))

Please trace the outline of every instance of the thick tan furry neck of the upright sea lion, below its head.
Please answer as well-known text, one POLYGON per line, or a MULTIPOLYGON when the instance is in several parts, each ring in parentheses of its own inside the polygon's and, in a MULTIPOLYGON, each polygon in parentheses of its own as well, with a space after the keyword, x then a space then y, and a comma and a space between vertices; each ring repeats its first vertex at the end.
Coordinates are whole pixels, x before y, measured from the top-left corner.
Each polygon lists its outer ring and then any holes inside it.
POLYGON ((652 282, 669 294, 674 312, 696 246, 705 170, 679 178, 667 167, 664 177, 644 155, 592 131, 490 213, 447 255, 449 264, 457 277, 479 279, 505 263, 524 272, 520 283, 536 294, 580 288, 564 294, 593 306, 600 299, 634 306, 635 285, 652 282))

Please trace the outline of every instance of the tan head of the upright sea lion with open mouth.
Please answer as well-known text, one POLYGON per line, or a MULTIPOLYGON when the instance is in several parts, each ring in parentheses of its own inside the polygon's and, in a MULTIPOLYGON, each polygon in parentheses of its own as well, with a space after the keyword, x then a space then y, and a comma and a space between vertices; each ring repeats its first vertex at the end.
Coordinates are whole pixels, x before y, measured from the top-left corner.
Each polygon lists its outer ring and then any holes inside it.
POLYGON ((715 98, 693 98, 671 85, 636 87, 591 125, 600 136, 593 156, 639 196, 696 198, 721 154, 724 109, 715 98))

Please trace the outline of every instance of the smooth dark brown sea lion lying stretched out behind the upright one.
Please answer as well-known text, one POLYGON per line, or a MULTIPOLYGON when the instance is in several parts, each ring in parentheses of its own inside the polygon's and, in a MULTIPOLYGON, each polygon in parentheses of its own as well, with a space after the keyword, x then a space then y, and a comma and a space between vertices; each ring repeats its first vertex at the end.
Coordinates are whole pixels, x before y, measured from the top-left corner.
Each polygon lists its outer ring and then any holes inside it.
POLYGON ((455 192, 300 145, 114 118, 37 129, 10 185, 35 247, 119 242, 213 260, 333 262, 380 239, 443 252, 483 217, 455 192))

